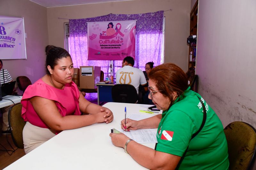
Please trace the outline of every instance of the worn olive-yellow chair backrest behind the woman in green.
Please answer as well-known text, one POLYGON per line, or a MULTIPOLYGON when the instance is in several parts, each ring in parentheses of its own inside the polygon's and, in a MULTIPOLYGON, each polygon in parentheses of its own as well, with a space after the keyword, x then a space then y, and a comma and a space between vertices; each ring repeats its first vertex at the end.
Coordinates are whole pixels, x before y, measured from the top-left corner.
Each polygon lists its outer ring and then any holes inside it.
POLYGON ((255 129, 245 122, 232 122, 224 133, 228 142, 229 169, 250 169, 255 159, 255 129))

